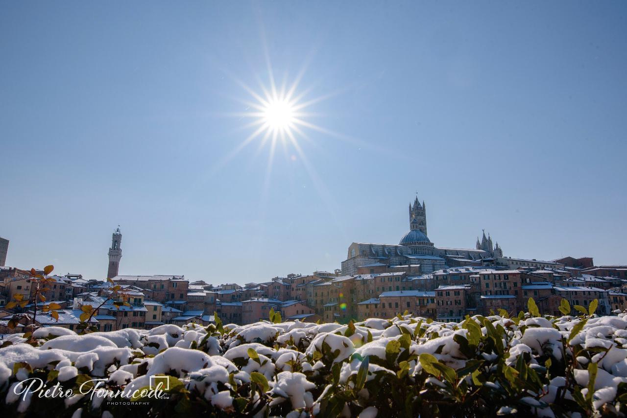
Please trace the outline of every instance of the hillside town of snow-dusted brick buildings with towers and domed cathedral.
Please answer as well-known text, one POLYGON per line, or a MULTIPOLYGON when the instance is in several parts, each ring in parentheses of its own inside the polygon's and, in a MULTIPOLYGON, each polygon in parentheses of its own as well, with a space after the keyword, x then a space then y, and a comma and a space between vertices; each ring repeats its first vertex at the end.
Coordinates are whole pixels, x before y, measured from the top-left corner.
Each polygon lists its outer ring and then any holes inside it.
MULTIPOLYGON (((215 315, 223 323, 245 325, 268 318, 271 310, 283 320, 302 322, 347 323, 403 313, 460 321, 501 309, 515 315, 525 310, 529 298, 550 315, 559 315, 562 299, 584 308, 597 299, 601 315, 627 308, 627 265, 595 266, 591 257, 542 261, 503 256, 485 232, 473 249, 436 247, 427 236, 426 205, 418 198, 409 206, 409 228, 399 244, 350 244, 347 259, 333 272, 223 285, 176 274, 119 274, 122 233, 117 228, 108 250, 110 281, 82 274, 50 276, 42 294, 46 303, 60 306, 58 318, 40 310, 34 323, 74 330, 87 305, 97 308, 88 321, 101 331, 208 325, 216 322, 215 315), (119 286, 119 294, 112 286, 119 286)), ((3 239, 3 261, 8 243, 3 239)), ((30 271, 0 267, 0 334, 24 327, 8 327, 15 313, 34 313, 31 280, 30 271), (7 308, 16 295, 29 303, 7 308)))

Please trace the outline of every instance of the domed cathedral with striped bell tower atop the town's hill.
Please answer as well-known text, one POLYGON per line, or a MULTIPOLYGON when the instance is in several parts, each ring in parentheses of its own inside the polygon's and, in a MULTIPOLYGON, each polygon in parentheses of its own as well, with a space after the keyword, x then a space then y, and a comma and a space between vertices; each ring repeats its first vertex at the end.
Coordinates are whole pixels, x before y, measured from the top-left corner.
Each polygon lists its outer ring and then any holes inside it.
POLYGON ((409 232, 398 244, 352 243, 347 259, 342 261, 342 274, 356 274, 364 266, 408 266, 417 264, 422 273, 431 273, 452 266, 477 266, 493 263, 503 251, 492 246, 492 238, 483 233, 475 249, 436 247, 427 235, 426 204, 414 200, 409 204, 409 232))

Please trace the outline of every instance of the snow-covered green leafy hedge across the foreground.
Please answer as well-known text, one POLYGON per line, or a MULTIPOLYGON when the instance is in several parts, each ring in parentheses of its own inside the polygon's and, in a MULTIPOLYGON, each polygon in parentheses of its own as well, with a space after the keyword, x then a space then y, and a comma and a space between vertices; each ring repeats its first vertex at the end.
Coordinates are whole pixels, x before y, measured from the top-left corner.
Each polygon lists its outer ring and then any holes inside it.
POLYGON ((625 314, 51 327, 0 348, 3 416, 620 416, 626 383, 625 314))

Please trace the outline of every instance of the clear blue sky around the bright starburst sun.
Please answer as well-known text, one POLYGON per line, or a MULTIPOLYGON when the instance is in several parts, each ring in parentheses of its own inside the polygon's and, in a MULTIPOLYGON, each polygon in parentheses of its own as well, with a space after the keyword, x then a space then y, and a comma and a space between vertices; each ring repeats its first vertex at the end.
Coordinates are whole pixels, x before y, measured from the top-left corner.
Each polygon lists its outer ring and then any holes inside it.
POLYGON ((332 270, 416 191, 436 246, 626 263, 626 45, 623 1, 4 1, 7 264, 104 278, 120 224, 120 274, 332 270), (299 73, 319 129, 233 154, 299 73))

